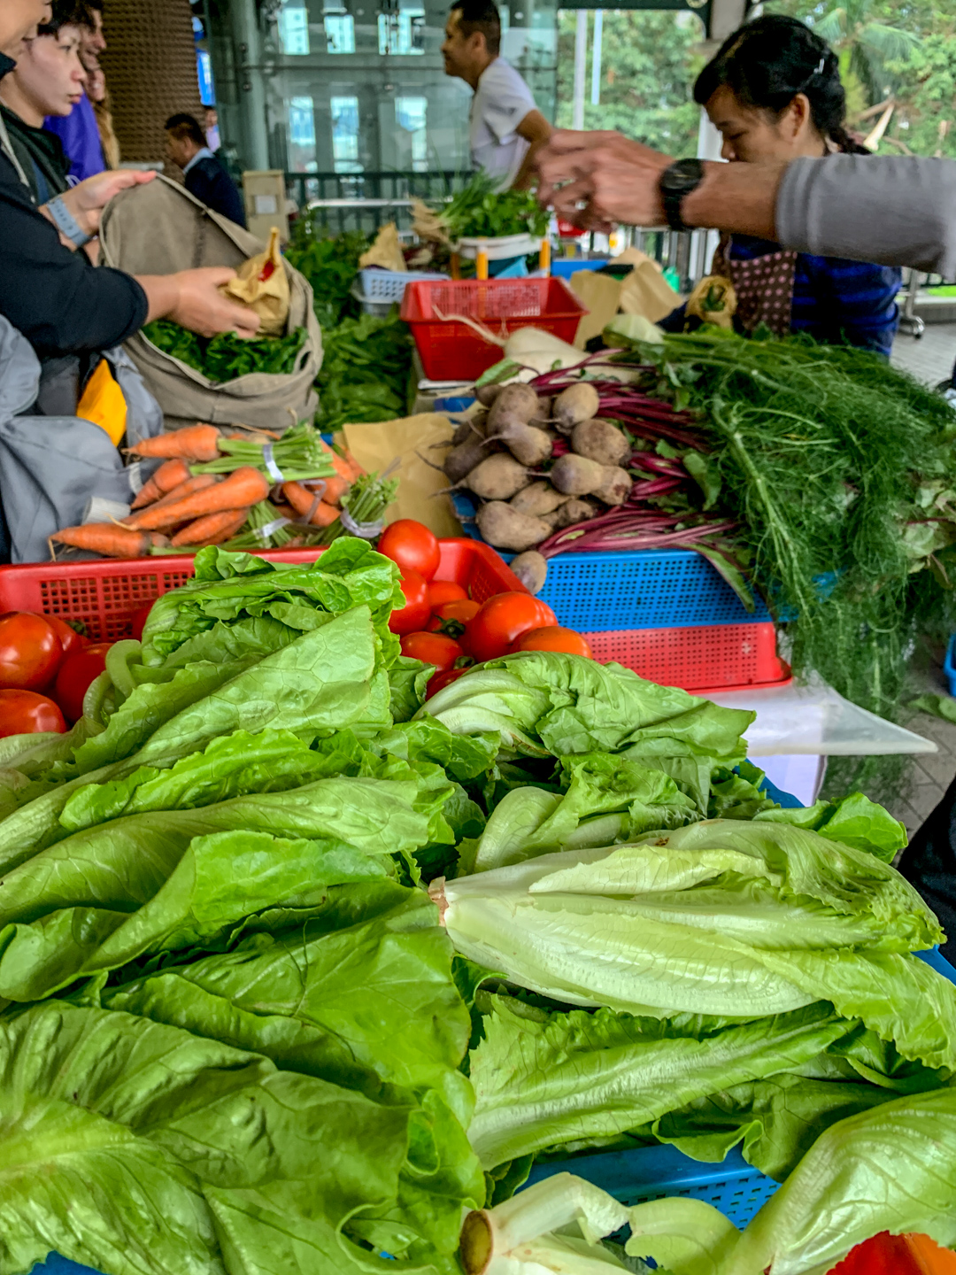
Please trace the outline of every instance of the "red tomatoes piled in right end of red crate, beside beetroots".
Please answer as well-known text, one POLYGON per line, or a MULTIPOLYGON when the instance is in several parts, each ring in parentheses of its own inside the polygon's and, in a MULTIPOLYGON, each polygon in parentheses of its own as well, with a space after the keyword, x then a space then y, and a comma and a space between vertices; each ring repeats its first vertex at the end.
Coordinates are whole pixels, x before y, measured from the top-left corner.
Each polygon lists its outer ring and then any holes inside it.
POLYGON ((382 532, 379 552, 398 564, 405 595, 389 627, 402 639, 404 655, 435 666, 430 696, 472 664, 518 650, 591 655, 586 640, 562 629, 551 607, 530 593, 497 593, 477 602, 461 585, 436 580, 441 544, 422 523, 410 518, 393 523, 382 532))

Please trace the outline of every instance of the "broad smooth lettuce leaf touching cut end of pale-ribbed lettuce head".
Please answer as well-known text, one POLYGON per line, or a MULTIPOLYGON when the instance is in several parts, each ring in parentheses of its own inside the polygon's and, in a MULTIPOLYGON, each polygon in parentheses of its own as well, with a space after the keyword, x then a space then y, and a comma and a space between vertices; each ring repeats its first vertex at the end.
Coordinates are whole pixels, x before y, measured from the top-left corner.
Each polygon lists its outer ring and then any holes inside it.
POLYGON ((384 880, 328 895, 297 917, 264 914, 227 954, 108 988, 102 1003, 335 1084, 351 1086, 358 1065, 390 1084, 433 1088, 467 1125, 472 1090, 458 1068, 470 1019, 433 904, 384 880))

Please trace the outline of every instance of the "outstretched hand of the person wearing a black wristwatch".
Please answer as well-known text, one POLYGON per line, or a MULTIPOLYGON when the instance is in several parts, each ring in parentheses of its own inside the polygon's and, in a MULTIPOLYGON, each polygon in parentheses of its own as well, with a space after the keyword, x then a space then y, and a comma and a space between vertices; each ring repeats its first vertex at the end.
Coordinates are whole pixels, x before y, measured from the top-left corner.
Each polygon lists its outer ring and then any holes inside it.
POLYGON ((584 229, 663 226, 660 175, 673 159, 619 133, 553 133, 537 156, 538 199, 584 229), (584 207, 579 207, 584 205, 584 207))

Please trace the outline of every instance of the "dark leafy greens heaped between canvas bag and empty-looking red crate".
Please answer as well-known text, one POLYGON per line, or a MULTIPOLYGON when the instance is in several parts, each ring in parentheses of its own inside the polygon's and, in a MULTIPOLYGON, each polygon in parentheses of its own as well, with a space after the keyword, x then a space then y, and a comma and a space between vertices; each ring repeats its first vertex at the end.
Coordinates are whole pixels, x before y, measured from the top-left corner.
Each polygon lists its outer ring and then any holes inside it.
POLYGON ((358 421, 404 416, 412 370, 412 337, 398 309, 380 319, 344 319, 322 333, 319 416, 325 431, 358 421))

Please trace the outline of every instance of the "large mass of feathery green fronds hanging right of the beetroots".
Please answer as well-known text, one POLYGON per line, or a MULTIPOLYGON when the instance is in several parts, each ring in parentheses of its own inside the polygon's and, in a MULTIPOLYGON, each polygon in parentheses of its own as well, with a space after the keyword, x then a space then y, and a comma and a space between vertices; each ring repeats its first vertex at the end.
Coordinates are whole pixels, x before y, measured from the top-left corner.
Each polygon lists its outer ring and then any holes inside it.
POLYGON ((956 414, 881 358, 718 329, 642 346, 701 412, 716 506, 798 673, 895 717, 918 631, 956 612, 956 414))

